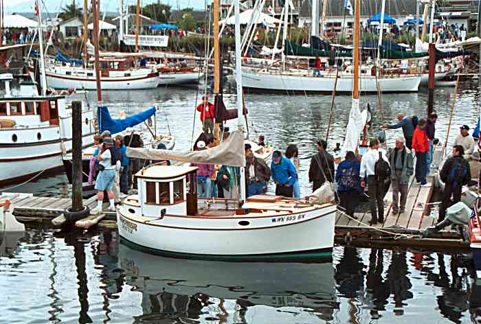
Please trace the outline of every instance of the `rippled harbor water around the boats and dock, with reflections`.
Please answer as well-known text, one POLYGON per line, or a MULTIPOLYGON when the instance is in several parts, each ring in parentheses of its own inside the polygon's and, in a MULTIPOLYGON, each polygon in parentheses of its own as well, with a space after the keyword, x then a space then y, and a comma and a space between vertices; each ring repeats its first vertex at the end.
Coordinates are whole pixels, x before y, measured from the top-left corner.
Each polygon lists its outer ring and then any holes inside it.
MULTIPOLYGON (((234 91, 227 86, 227 108, 235 107, 234 91)), ((436 90, 443 143, 453 93, 436 90)), ((95 105, 95 94, 88 97, 95 105)), ((194 113, 200 97, 196 87, 105 91, 104 104, 115 115, 158 103, 157 126, 170 128, 176 148, 186 150, 201 130, 194 113)), ((462 124, 476 124, 478 97, 477 86, 462 84, 448 143, 462 124)), ((362 106, 368 102, 375 132, 383 119, 377 97, 361 97, 362 106)), ((308 193, 310 157, 315 141, 326 136, 331 97, 247 94, 245 103, 251 139, 265 135, 282 151, 298 145, 302 191, 308 193)), ((383 95, 383 103, 385 122, 394 122, 399 111, 423 116, 427 90, 383 95)), ((343 140, 349 110, 350 97, 336 97, 331 149, 343 140)), ((389 131, 388 143, 399 135, 389 131)), ((1 191, 69 196, 69 185, 58 174, 1 191)), ((34 228, 3 244, 0 323, 481 323, 481 286, 457 254, 338 246, 328 263, 232 264, 145 255, 119 244, 115 231, 61 238, 34 228)))

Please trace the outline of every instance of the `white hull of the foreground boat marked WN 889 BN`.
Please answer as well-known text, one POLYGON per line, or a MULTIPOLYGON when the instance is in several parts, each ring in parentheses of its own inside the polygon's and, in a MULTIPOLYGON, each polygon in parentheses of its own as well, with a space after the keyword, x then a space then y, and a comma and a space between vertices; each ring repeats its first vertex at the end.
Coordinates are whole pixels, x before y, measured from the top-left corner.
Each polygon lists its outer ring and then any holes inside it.
POLYGON ((335 205, 283 216, 135 216, 136 207, 117 211, 120 236, 152 253, 187 257, 265 259, 284 254, 331 255, 335 205), (241 225, 243 224, 243 225, 241 225))

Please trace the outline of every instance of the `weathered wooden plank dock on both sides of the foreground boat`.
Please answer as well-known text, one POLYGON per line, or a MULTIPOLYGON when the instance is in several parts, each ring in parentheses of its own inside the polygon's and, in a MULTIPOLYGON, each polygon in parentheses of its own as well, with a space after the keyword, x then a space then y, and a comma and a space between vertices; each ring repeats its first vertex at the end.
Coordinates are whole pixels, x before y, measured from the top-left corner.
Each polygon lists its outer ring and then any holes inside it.
MULTIPOLYGON (((427 227, 436 224, 436 219, 429 216, 429 201, 434 191, 434 178, 428 178, 431 187, 421 187, 410 181, 407 194, 405 212, 392 213, 392 192, 385 195, 385 220, 383 224, 374 227, 368 225, 370 213, 356 213, 357 220, 348 218, 342 213, 337 213, 335 220, 335 240, 340 244, 353 244, 358 246, 388 245, 411 246, 417 248, 445 249, 469 248, 469 243, 462 240, 458 231, 440 231, 429 238, 421 235, 427 227)), ((21 222, 47 222, 57 225, 64 209, 71 207, 70 198, 37 197, 32 194, 3 194, 1 198, 8 198, 14 206, 13 214, 21 222)), ((90 209, 96 207, 96 196, 83 201, 84 206, 90 209)), ((104 204, 104 208, 107 205, 104 204)), ((115 212, 104 212, 100 216, 88 216, 77 222, 77 226, 88 228, 93 224, 98 227, 117 229, 115 212), (84 222, 82 225, 82 221, 84 222), (79 223, 80 222, 80 223, 79 223), (91 224, 93 222, 93 224, 91 224), (85 227, 87 224, 87 227, 85 227)))

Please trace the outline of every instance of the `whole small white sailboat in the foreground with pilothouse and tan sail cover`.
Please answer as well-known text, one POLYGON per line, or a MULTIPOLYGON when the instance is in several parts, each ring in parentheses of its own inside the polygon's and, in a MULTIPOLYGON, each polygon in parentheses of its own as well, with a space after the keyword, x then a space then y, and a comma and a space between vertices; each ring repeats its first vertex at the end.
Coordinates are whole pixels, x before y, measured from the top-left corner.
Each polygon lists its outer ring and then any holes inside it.
POLYGON ((239 0, 236 12, 238 130, 197 152, 127 149, 129 157, 240 167, 240 201, 197 198, 197 167, 151 165, 137 172, 139 194, 118 207, 124 242, 151 253, 206 259, 331 257, 336 205, 282 196, 245 199, 239 0))

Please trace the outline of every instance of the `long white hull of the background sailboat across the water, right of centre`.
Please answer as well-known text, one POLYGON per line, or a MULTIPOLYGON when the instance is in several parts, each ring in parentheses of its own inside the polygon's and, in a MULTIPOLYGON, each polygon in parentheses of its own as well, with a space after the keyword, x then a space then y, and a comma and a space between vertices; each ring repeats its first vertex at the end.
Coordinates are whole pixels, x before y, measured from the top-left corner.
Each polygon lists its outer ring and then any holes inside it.
MULTIPOLYGON (((296 93, 331 93, 334 89, 335 77, 314 78, 313 76, 296 76, 282 73, 256 73, 243 69, 243 87, 254 91, 293 91, 296 93)), ((359 91, 362 93, 401 93, 418 91, 421 76, 402 78, 375 78, 365 76, 359 78, 359 91)), ((353 78, 342 76, 337 78, 336 91, 352 93, 353 78)))

